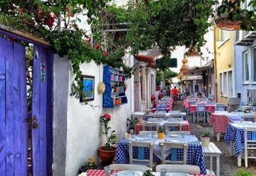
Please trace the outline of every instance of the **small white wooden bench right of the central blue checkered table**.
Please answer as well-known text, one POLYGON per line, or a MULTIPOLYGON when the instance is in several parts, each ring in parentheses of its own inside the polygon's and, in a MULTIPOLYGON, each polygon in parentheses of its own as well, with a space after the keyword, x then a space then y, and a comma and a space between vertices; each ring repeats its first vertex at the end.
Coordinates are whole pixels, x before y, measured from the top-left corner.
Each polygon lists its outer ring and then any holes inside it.
POLYGON ((202 146, 203 156, 210 156, 210 174, 213 174, 213 157, 216 157, 216 176, 219 176, 219 157, 222 152, 214 143, 209 146, 202 146))

